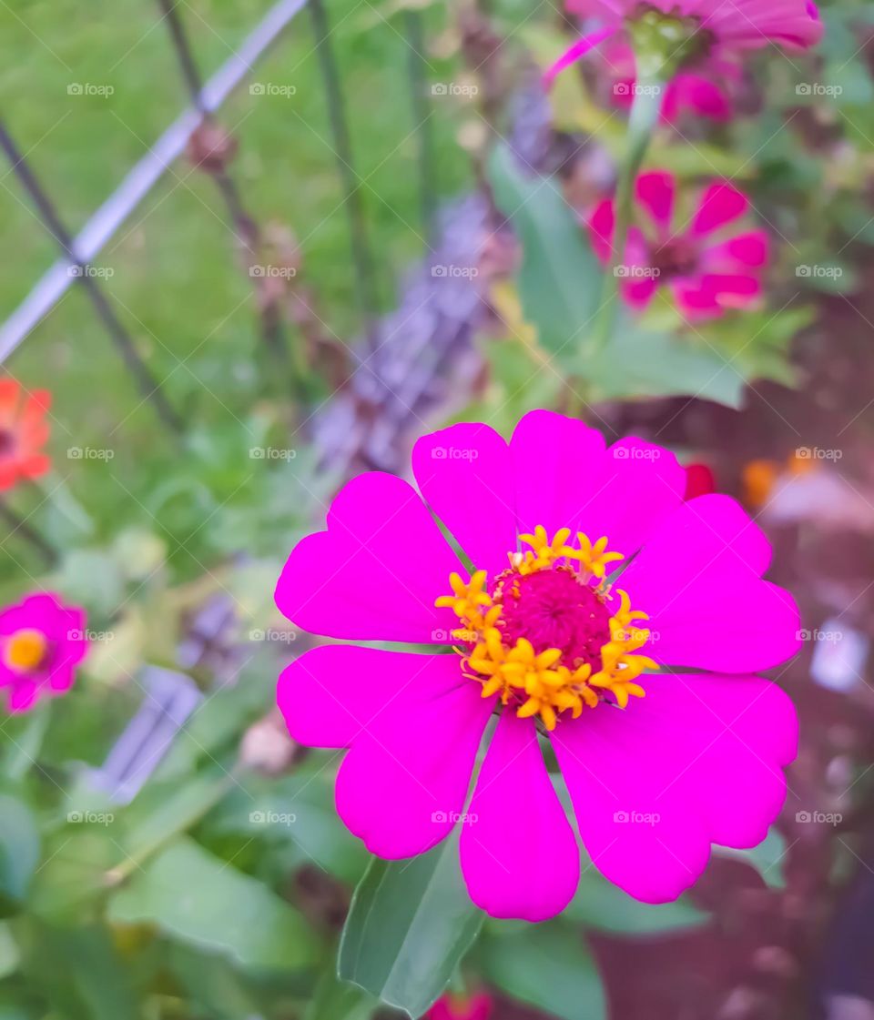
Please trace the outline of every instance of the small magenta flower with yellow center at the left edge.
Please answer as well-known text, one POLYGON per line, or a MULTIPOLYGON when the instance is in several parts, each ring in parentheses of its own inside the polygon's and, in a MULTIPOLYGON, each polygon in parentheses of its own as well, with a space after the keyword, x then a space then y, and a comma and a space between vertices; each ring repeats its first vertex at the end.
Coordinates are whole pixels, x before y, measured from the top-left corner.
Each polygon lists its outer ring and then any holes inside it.
POLYGON ((85 610, 54 595, 29 595, 0 611, 0 688, 10 712, 26 712, 40 695, 72 684, 87 650, 85 610))

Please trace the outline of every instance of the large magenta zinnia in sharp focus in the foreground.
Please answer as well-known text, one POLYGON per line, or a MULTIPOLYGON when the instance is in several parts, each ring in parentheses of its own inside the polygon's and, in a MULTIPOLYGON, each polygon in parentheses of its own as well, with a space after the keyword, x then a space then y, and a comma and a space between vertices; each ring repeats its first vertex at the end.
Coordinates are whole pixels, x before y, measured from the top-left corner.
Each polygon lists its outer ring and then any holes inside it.
POLYGON ((508 444, 484 424, 426 436, 412 471, 419 493, 381 472, 348 482, 276 591, 299 627, 399 646, 318 647, 280 676, 294 740, 349 749, 336 784, 349 829, 397 859, 460 821, 474 902, 550 917, 580 849, 548 741, 593 864, 639 900, 679 896, 712 843, 758 845, 796 721, 752 674, 796 652, 798 613, 762 579, 771 549, 739 505, 685 502, 667 450, 605 449, 547 411, 508 444))

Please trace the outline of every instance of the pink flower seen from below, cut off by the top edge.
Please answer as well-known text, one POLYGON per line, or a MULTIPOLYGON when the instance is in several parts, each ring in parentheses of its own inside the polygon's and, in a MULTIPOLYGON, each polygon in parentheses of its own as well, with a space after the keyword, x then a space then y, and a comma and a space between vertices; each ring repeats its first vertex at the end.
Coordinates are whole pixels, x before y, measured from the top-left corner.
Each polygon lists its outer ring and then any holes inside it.
POLYGON ((822 37, 819 11, 811 0, 570 0, 567 6, 601 27, 555 61, 547 82, 617 33, 633 37, 640 32, 656 45, 661 37, 669 67, 679 70, 769 43, 808 49, 822 37))

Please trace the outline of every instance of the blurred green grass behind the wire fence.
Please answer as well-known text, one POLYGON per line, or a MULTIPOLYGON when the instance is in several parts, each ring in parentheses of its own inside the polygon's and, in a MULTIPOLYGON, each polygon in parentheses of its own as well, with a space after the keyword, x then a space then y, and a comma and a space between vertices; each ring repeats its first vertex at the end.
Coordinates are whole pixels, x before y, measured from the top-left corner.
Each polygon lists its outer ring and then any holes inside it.
MULTIPOLYGON (((386 23, 368 2, 329 0, 383 306, 404 267, 424 250, 416 173, 417 137, 402 21, 386 23)), ((182 14, 204 76, 268 9, 268 0, 190 0, 182 14)), ((432 36, 445 12, 427 12, 432 36)), ((0 94, 18 145, 78 230, 185 105, 166 28, 146 0, 8 0, 0 7, 0 94), (70 83, 109 85, 110 96, 68 95, 70 83)), ((440 74, 444 65, 431 61, 440 74)), ((432 74, 432 76, 437 76, 432 74)), ((439 80, 439 78, 437 78, 439 80)), ((220 113, 239 141, 233 164, 246 205, 262 222, 292 230, 320 313, 344 342, 360 322, 343 195, 325 94, 302 11, 251 81, 293 85, 291 98, 252 96, 247 84, 220 113)), ((468 163, 454 143, 458 111, 433 105, 442 194, 460 190, 468 163)), ((56 251, 17 182, 6 172, 0 217, 7 252, 0 310, 8 314, 56 251), (9 255, 12 255, 10 258, 9 255)), ((115 307, 167 396, 189 417, 233 426, 256 390, 260 343, 249 279, 213 183, 179 161, 98 260, 115 307), (180 365, 180 362, 183 362, 180 365)), ((28 338, 7 367, 55 394, 53 448, 124 447, 152 452, 157 428, 119 368, 78 288, 28 338)), ((114 467, 120 469, 116 459, 114 467)), ((60 464, 67 473, 67 462, 60 464)), ((82 496, 82 493, 80 493, 82 496)))

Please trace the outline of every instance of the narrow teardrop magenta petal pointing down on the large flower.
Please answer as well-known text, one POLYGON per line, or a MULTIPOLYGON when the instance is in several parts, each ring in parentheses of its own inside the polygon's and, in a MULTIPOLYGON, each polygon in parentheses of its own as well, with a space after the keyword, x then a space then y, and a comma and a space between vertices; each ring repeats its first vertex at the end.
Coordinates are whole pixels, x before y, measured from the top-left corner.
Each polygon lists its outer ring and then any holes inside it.
POLYGON ((471 899, 492 917, 544 921, 570 903, 580 851, 530 719, 501 714, 460 854, 471 899))

